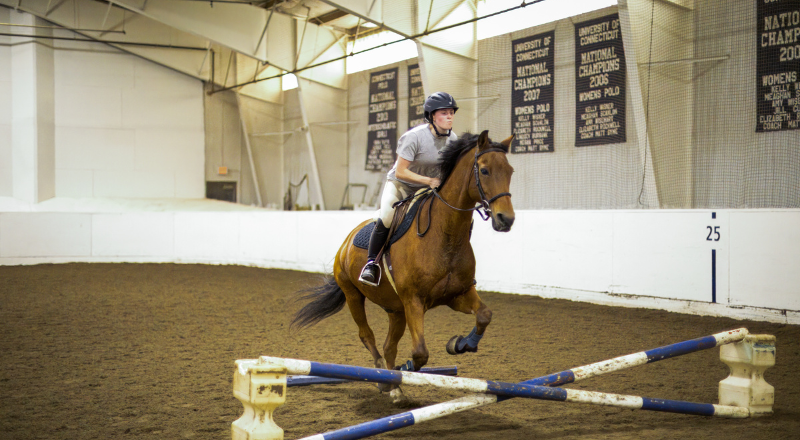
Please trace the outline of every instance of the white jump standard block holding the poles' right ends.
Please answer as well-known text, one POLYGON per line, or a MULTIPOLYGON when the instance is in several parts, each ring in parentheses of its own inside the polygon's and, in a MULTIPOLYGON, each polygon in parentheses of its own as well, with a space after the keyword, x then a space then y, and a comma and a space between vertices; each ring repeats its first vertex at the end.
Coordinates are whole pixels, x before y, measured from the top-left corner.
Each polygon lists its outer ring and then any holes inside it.
POLYGON ((764 380, 764 370, 775 365, 775 336, 748 335, 720 347, 719 358, 730 368, 719 383, 720 405, 749 408, 751 417, 772 414, 775 387, 764 380))

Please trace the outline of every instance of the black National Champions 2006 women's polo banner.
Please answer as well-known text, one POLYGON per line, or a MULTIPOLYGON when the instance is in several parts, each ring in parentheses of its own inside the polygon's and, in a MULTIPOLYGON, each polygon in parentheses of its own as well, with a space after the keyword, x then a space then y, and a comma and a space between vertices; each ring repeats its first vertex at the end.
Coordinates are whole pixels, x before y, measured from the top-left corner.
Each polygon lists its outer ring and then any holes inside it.
POLYGON ((619 14, 575 24, 575 146, 625 142, 625 49, 619 14))

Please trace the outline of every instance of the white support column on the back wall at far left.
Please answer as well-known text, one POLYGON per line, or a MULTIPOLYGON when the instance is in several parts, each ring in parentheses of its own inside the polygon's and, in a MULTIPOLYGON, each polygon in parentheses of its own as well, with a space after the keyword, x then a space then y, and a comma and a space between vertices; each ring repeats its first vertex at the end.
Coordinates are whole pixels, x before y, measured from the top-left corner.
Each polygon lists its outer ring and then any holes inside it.
MULTIPOLYGON (((12 23, 47 25, 10 11, 12 23)), ((44 34, 45 29, 21 28, 44 34)), ((27 203, 55 197, 55 84, 53 49, 15 37, 11 48, 11 172, 13 196, 27 203)))

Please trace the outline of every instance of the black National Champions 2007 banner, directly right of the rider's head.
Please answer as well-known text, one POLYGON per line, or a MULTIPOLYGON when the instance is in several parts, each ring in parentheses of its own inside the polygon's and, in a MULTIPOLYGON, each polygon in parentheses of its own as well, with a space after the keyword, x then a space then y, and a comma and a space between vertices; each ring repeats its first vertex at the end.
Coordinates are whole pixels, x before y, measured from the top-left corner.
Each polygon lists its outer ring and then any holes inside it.
POLYGON ((511 42, 512 153, 553 152, 555 31, 511 42))

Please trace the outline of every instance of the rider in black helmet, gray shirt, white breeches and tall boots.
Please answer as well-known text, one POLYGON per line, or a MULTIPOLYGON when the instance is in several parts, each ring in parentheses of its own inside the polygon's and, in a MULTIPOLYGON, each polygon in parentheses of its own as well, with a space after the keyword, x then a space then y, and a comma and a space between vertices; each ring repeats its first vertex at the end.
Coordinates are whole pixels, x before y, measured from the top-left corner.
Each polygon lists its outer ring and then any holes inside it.
POLYGON ((397 141, 397 162, 386 176, 380 213, 369 238, 367 264, 358 278, 362 283, 377 286, 380 281, 380 267, 375 258, 388 238, 394 217, 392 205, 420 188, 441 185, 438 153, 448 141, 458 138, 452 130, 457 110, 456 100, 448 93, 436 92, 428 96, 424 106, 427 123, 408 130, 397 141))

